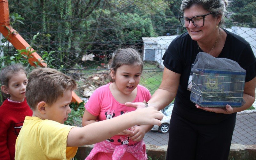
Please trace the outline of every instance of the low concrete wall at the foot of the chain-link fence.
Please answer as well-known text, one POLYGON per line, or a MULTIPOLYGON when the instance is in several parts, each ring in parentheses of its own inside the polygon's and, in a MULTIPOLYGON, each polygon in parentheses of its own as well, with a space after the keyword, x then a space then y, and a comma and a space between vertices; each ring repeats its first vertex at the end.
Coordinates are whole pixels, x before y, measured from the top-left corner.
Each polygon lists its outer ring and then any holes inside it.
MULTIPOLYGON (((90 153, 93 145, 79 147, 76 159, 82 160, 90 153)), ((146 145, 147 155, 152 159, 165 160, 167 146, 146 145)), ((231 144, 229 160, 256 160, 256 145, 231 144)))

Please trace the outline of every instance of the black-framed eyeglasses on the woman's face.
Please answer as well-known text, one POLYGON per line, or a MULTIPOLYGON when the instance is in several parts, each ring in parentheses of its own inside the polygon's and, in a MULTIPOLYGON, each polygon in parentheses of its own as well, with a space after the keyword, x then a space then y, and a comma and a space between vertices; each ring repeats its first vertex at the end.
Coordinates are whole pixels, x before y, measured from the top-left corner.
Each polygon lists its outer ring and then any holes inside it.
POLYGON ((212 14, 212 13, 213 12, 207 13, 207 14, 202 15, 202 16, 194 16, 192 18, 187 18, 187 17, 182 16, 182 17, 179 17, 179 20, 180 20, 181 25, 185 28, 188 27, 190 21, 192 21, 192 23, 196 27, 203 27, 204 26, 204 17, 209 15, 209 14, 212 14))

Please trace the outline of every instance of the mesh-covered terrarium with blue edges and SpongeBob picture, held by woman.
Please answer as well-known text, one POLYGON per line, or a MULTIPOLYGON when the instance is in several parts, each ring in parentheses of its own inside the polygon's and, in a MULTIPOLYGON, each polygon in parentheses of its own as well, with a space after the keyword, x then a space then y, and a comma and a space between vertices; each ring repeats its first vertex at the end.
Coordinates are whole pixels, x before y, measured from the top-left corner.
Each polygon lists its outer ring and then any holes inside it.
POLYGON ((244 105, 246 71, 236 61, 199 52, 191 69, 190 100, 202 107, 244 105))

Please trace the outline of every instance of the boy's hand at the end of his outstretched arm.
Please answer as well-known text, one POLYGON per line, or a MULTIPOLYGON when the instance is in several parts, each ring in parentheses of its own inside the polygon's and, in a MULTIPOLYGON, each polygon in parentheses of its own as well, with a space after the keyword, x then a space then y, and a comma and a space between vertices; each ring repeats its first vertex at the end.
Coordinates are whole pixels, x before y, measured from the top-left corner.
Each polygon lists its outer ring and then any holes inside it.
MULTIPOLYGON (((145 105, 145 104, 144 104, 145 105)), ((157 111, 153 107, 137 109, 135 111, 130 112, 132 114, 135 113, 134 118, 136 118, 138 124, 137 125, 161 125, 161 120, 164 115, 157 111)))

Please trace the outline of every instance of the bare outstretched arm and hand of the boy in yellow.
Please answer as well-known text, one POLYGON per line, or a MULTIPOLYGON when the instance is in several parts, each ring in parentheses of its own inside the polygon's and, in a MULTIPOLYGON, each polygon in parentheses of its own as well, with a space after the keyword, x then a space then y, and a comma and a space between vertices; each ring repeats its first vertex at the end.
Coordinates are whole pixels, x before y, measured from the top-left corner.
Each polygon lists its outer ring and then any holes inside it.
POLYGON ((68 133, 67 147, 95 144, 134 125, 161 125, 162 119, 163 114, 153 107, 148 107, 82 128, 74 127, 68 133))

